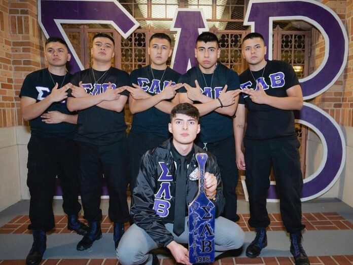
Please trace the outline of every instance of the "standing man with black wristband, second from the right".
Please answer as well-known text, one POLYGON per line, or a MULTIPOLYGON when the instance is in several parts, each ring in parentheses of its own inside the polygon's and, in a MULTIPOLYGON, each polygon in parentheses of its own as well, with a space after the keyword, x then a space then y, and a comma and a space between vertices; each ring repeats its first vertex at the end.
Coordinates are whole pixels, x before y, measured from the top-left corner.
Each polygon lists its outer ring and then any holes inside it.
POLYGON ((239 99, 239 78, 236 72, 217 62, 220 53, 217 36, 201 33, 195 48, 198 65, 180 78, 184 88, 179 94, 180 102, 194 103, 200 111, 201 132, 196 143, 216 156, 226 199, 222 216, 236 222, 238 171, 234 163, 232 117, 239 99))

